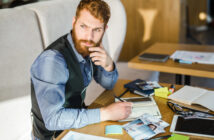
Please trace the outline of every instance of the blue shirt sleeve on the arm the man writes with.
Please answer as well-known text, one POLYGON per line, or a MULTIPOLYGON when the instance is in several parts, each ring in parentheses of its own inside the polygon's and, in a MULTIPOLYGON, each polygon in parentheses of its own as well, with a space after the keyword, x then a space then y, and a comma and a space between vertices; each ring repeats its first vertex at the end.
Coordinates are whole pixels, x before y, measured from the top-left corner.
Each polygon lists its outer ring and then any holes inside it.
POLYGON ((31 67, 31 80, 48 130, 80 128, 100 122, 100 109, 64 108, 69 72, 60 53, 48 50, 31 67))

